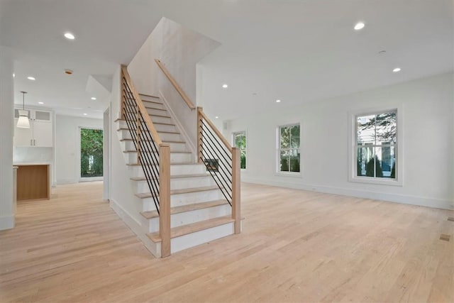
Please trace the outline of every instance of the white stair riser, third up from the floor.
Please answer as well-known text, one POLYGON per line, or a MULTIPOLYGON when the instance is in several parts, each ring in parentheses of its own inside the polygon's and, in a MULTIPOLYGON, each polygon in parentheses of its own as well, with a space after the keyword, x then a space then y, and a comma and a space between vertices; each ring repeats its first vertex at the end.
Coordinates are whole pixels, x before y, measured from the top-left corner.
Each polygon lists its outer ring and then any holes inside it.
MULTIPOLYGON (((221 190, 213 189, 203 192, 188 192, 186 194, 172 194, 170 195, 170 206, 182 206, 197 202, 208 202, 213 200, 225 199, 221 194, 221 190)), ((155 210, 155 203, 153 198, 142 199, 144 211, 155 210)))

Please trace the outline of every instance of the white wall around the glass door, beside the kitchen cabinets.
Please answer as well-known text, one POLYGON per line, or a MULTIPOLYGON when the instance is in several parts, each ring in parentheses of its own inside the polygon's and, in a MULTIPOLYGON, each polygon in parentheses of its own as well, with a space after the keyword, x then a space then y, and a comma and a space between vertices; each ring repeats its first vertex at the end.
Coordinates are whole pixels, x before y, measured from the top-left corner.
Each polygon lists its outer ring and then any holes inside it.
POLYGON ((79 182, 79 128, 103 128, 102 119, 56 115, 55 169, 57 184, 79 182))

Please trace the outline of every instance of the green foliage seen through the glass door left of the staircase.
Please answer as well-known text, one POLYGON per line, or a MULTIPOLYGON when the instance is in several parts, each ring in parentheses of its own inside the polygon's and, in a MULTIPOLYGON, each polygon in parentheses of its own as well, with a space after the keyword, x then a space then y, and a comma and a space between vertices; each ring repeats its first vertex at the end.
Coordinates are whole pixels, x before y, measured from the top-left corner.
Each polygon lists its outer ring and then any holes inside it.
POLYGON ((103 133, 98 129, 80 129, 80 176, 102 177, 103 133))

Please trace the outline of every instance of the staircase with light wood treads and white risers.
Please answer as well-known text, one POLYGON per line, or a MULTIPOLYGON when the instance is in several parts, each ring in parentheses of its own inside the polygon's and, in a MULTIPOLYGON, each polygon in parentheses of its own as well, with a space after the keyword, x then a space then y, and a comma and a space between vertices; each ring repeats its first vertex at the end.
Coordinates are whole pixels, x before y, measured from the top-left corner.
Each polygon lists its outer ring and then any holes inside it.
MULTIPOLYGON (((207 172, 206 165, 196 161, 197 155, 189 150, 166 105, 158 97, 145 94, 138 96, 150 120, 153 121, 160 140, 170 147, 170 253, 236 233, 236 220, 233 219, 230 202, 221 192, 221 187, 216 184, 212 173, 207 172)), ((156 257, 166 256, 162 255, 162 226, 160 227, 160 216, 163 216, 163 211, 159 214, 156 194, 150 190, 147 174, 144 172, 146 167, 144 165, 152 164, 140 163, 139 159, 139 152, 148 154, 153 152, 144 150, 138 152, 137 142, 134 143, 131 137, 133 132, 128 128, 124 117, 117 119, 116 123, 118 140, 121 142, 125 162, 128 165, 135 196, 141 202, 142 229, 150 240, 145 246, 156 257)), ((161 205, 159 209, 162 209, 161 205)))

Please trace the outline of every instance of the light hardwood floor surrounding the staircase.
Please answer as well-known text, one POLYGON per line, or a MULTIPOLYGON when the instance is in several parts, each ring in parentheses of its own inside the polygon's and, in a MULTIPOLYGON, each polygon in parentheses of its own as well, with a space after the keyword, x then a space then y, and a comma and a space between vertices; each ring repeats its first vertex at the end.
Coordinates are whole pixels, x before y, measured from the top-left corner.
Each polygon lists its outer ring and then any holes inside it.
POLYGON ((454 211, 242 190, 242 233, 165 259, 101 201, 99 182, 21 202, 16 228, 0 232, 0 302, 454 302, 454 211))

